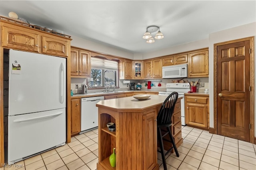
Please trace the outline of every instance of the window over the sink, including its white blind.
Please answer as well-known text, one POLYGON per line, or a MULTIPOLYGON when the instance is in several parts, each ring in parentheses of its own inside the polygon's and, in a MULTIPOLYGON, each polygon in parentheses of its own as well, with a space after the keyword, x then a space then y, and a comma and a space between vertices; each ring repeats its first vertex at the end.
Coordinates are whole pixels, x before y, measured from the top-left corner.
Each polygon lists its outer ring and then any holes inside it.
POLYGON ((88 88, 114 87, 118 82, 118 62, 113 60, 91 58, 91 78, 88 88))

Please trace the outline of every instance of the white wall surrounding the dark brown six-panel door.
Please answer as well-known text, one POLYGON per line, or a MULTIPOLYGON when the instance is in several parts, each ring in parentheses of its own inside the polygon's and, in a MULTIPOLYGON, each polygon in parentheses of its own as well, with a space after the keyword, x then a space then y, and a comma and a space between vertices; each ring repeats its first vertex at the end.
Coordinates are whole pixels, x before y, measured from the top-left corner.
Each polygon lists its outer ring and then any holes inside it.
MULTIPOLYGON (((240 39, 240 38, 245 38, 245 37, 254 36, 254 38, 255 38, 255 35, 256 35, 256 22, 249 23, 246 25, 241 25, 238 27, 230 28, 230 29, 225 29, 222 31, 218 31, 218 32, 209 34, 209 84, 214 83, 213 64, 210 64, 210 63, 214 63, 214 58, 213 58, 214 57, 214 44, 225 42, 225 41, 230 41, 230 40, 235 40, 235 39, 240 39)), ((254 39, 254 41, 255 41, 255 39, 254 39)), ((255 43, 254 43, 254 46, 255 46, 255 43)), ((254 47, 254 57, 256 57, 255 56, 255 49, 256 49, 255 47, 254 47)), ((255 64, 256 64, 256 62, 255 62, 255 64)), ((256 68, 256 65, 255 65, 255 68, 256 68)), ((254 82, 254 84, 255 84, 255 82, 254 82)), ((213 86, 209 87, 209 95, 210 95, 210 127, 214 127, 213 86)), ((255 104, 254 104, 254 106, 255 106, 255 104)), ((255 114, 255 111, 254 111, 254 114, 255 114)), ((254 122, 256 123, 256 115, 254 116, 254 119, 255 119, 254 122)), ((256 132, 256 126, 254 128, 255 128, 254 131, 256 132)), ((256 133, 254 134, 254 136, 256 136, 256 133)))

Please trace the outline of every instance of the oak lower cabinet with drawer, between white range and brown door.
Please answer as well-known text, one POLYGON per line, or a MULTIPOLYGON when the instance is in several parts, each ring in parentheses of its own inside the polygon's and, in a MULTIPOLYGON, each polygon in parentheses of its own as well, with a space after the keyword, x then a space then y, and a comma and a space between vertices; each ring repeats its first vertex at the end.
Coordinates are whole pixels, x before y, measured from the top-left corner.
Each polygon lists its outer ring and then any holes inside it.
POLYGON ((188 126, 209 129, 209 96, 185 94, 185 122, 188 126))

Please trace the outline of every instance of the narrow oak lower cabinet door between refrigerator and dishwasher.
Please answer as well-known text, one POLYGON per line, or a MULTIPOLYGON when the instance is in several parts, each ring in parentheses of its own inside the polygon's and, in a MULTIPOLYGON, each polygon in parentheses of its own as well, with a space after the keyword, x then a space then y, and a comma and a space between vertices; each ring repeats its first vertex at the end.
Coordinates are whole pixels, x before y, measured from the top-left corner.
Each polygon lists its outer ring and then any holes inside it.
POLYGON ((81 129, 80 99, 71 99, 71 136, 81 129))

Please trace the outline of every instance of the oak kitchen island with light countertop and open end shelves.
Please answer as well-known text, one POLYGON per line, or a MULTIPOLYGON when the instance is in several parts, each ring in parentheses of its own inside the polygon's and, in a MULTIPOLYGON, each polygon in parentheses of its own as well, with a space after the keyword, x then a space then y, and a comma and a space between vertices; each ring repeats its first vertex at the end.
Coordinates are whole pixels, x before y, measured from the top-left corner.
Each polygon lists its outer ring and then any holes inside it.
POLYGON ((159 169, 156 117, 165 99, 166 96, 151 95, 147 100, 126 97, 102 100, 96 104, 99 119, 98 170, 159 169), (116 131, 108 130, 108 122, 116 124, 116 131), (116 148, 116 167, 109 163, 113 148, 116 148))

